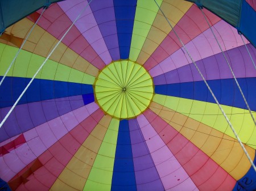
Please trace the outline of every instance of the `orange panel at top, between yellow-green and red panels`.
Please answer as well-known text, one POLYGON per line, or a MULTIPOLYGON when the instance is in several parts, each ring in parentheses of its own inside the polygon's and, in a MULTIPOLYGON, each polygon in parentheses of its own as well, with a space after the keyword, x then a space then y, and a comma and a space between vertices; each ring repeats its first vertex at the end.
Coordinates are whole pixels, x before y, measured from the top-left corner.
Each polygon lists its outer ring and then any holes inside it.
MULTIPOLYGON (((187 1, 168 0, 163 1, 160 8, 168 20, 170 20, 172 27, 175 27, 177 22, 179 22, 185 12, 187 12, 192 5, 193 4, 191 2, 187 1)), ((137 62, 143 65, 170 32, 171 27, 166 18, 164 18, 162 12, 159 10, 154 23, 148 32, 147 39, 143 44, 143 53, 139 54, 137 62)))

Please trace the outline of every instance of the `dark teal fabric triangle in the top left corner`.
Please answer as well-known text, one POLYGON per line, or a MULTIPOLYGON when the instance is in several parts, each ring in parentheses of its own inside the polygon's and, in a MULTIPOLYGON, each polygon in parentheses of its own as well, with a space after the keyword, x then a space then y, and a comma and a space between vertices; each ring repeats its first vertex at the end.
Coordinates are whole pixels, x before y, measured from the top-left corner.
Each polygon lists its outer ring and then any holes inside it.
POLYGON ((60 0, 1 0, 0 31, 49 3, 60 0), (2 17, 2 18, 1 18, 2 17), (3 23, 2 23, 3 22, 3 23))

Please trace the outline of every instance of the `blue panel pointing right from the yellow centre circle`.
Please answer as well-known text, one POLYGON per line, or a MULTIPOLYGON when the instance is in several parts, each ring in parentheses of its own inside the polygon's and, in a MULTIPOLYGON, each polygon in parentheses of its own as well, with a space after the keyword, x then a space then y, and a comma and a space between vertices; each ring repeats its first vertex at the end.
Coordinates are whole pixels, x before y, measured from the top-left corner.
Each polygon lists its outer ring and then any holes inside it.
MULTIPOLYGON (((237 80, 251 110, 256 111, 254 98, 256 78, 238 78, 237 80)), ((247 109, 234 79, 208 80, 207 82, 220 104, 247 109)), ((203 81, 158 85, 155 86, 155 93, 215 103, 203 81)))

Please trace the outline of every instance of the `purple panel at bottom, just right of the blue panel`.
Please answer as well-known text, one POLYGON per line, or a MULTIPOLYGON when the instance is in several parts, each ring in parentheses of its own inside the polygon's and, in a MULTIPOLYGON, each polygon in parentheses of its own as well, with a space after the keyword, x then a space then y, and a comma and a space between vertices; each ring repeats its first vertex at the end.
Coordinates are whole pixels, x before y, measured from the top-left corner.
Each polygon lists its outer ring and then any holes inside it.
POLYGON ((164 190, 137 120, 129 120, 137 190, 164 190))

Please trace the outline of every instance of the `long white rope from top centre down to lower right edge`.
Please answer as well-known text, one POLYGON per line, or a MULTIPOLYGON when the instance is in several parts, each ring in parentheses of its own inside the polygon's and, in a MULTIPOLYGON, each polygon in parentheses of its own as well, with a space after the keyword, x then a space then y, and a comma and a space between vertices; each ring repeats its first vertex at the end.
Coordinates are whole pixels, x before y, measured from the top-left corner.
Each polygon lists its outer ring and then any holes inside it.
POLYGON ((177 39, 179 39, 179 41, 180 41, 181 45, 183 46, 183 48, 184 48, 184 49, 185 49, 185 51, 187 52, 187 54, 188 54, 189 58, 191 59, 191 61, 192 61, 192 62, 193 62, 193 64, 195 65, 195 67, 196 67, 197 71, 199 72, 199 74, 200 74, 201 78, 204 80, 204 83, 205 83, 205 85, 207 86, 208 90, 210 91, 210 94, 212 94, 213 99, 216 101, 216 103, 217 103, 217 105, 218 105, 218 108, 220 108, 220 110, 221 110, 222 114, 224 115, 224 117, 225 117, 226 121, 228 122, 228 124, 229 124, 230 128, 232 129, 232 131, 233 131, 234 135, 236 136, 237 141, 239 142, 240 146, 242 147, 243 152, 245 152, 245 154, 246 154, 246 156, 247 156, 247 158, 248 158, 249 162, 251 163, 251 165, 252 165, 252 166, 253 166, 253 168, 254 168, 254 171, 256 172, 256 167, 255 167, 255 164, 253 163, 253 160, 251 160, 250 155, 248 154, 248 152, 247 152, 247 151, 246 151, 246 149, 245 149, 245 146, 243 146, 243 143, 241 142, 240 138, 238 137, 238 135, 237 135, 237 133, 236 133, 236 130, 233 128, 233 126, 232 126, 231 122, 229 121, 229 118, 226 116, 226 113, 225 113, 225 112, 224 112, 224 110, 222 109, 222 107, 221 107, 220 103, 218 103, 218 100, 217 100, 216 96, 213 94, 212 89, 210 88, 209 84, 208 84, 208 83, 207 83, 207 81, 205 80, 205 78, 204 78, 203 74, 201 73, 201 71, 200 71, 199 67, 197 66, 196 62, 195 62, 195 61, 193 61, 193 58, 192 58, 192 57, 191 57, 191 55, 189 54, 189 52, 188 52, 187 48, 185 47, 185 45, 184 45, 184 44, 183 44, 183 42, 181 41, 180 37, 177 35, 177 33, 176 33, 176 31, 175 31, 174 27, 172 27, 172 25, 171 25, 170 21, 167 19, 166 15, 165 15, 165 14, 164 14, 164 12, 162 11, 162 9, 160 8, 160 6, 159 6, 159 5, 158 5, 158 3, 156 2, 156 0, 154 0, 154 1, 155 1, 156 5, 159 7, 159 10, 162 12, 162 14, 163 14, 164 18, 166 18, 166 20, 167 20, 168 24, 169 24, 169 25, 170 25, 170 27, 172 28, 172 31, 174 31, 174 33, 175 33, 175 35, 176 35, 177 39))

